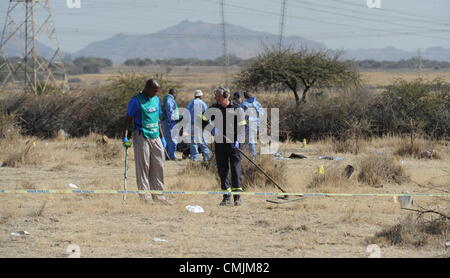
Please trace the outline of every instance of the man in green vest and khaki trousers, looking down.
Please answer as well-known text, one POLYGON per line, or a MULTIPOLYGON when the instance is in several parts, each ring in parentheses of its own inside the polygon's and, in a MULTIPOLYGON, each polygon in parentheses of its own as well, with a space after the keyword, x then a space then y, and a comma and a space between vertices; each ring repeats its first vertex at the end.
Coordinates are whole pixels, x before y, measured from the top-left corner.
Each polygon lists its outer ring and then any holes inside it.
MULTIPOLYGON (((136 182, 139 190, 164 190, 164 147, 159 124, 161 109, 156 93, 160 86, 150 79, 142 92, 128 103, 124 142, 128 142, 129 130, 133 130, 136 182), (133 127, 134 124, 134 127, 133 127)), ((140 194, 148 201, 149 195, 140 194)), ((152 195, 154 201, 171 205, 164 195, 152 195)))

